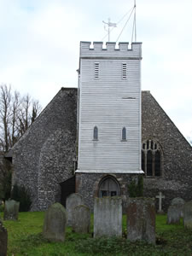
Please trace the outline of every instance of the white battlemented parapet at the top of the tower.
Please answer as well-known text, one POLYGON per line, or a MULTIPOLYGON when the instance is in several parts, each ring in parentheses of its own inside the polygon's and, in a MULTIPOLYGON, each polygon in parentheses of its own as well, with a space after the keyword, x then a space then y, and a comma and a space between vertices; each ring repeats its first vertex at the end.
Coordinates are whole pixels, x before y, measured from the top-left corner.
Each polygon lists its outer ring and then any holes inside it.
POLYGON ((132 43, 131 49, 128 48, 129 43, 113 43, 93 42, 93 47, 90 47, 91 42, 80 42, 80 58, 92 57, 110 57, 124 59, 142 59, 142 43, 132 43))

